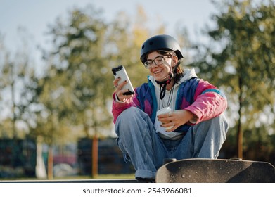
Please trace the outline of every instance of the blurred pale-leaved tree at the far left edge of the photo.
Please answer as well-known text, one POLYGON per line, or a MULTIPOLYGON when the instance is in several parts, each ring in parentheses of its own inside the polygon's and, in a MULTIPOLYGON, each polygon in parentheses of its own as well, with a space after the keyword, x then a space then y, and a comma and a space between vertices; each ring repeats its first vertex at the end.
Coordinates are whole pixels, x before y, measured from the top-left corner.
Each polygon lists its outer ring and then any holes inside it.
POLYGON ((21 47, 15 51, 15 57, 0 40, 1 51, 1 119, 3 119, 2 136, 7 138, 23 138, 28 134, 28 120, 30 120, 30 106, 27 100, 29 92, 25 89, 34 75, 34 64, 28 55, 30 53, 30 35, 24 28, 19 28, 21 47), (10 127, 7 127, 10 124, 10 127))

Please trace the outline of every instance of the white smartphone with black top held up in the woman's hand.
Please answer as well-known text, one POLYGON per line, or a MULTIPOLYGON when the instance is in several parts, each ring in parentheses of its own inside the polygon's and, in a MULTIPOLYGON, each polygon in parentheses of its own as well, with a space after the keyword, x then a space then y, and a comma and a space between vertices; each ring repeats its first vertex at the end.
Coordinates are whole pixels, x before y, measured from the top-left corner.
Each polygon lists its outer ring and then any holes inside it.
POLYGON ((129 89, 129 91, 125 92, 124 95, 131 95, 134 94, 134 88, 132 86, 131 81, 129 80, 129 77, 127 75, 127 72, 124 68, 123 65, 119 65, 116 68, 112 68, 112 72, 113 75, 115 76, 115 78, 120 77, 120 80, 118 81, 118 84, 124 82, 125 80, 127 80, 127 84, 124 85, 124 87, 122 87, 122 89, 129 89))

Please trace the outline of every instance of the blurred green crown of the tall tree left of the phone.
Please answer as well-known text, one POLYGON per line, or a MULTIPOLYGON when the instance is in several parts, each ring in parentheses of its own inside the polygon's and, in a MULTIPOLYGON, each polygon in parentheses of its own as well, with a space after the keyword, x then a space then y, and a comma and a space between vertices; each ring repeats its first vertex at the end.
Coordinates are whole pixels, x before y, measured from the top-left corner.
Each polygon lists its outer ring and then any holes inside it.
POLYGON ((46 57, 50 65, 41 79, 40 99, 49 117, 55 117, 51 122, 59 125, 60 133, 78 127, 91 136, 99 127, 110 127, 113 76, 105 58, 106 32, 107 25, 91 7, 75 9, 68 23, 57 21, 51 27, 54 51, 46 57))

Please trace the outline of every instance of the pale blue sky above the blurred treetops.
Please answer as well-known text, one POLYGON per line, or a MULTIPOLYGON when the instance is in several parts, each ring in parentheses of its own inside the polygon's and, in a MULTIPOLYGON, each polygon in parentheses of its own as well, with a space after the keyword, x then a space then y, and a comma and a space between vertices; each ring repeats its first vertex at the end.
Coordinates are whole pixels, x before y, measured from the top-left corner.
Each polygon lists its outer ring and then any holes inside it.
POLYGON ((0 35, 4 36, 6 48, 14 51, 20 48, 18 28, 23 27, 30 34, 32 44, 46 47, 49 25, 58 17, 67 17, 72 8, 84 8, 88 4, 101 9, 106 21, 113 20, 120 11, 135 16, 137 6, 142 6, 150 24, 164 23, 172 36, 180 25, 187 27, 192 37, 205 24, 210 24, 210 15, 215 13, 210 0, 0 0, 0 35))

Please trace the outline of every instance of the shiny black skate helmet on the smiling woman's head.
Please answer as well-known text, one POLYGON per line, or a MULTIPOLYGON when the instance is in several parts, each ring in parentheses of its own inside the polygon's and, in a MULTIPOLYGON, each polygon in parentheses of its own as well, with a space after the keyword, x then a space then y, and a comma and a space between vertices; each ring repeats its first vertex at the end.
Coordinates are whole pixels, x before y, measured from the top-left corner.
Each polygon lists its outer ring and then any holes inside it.
POLYGON ((175 51, 179 59, 184 58, 181 53, 181 47, 174 37, 161 34, 146 40, 141 46, 141 62, 146 61, 146 56, 152 51, 167 50, 175 51))

